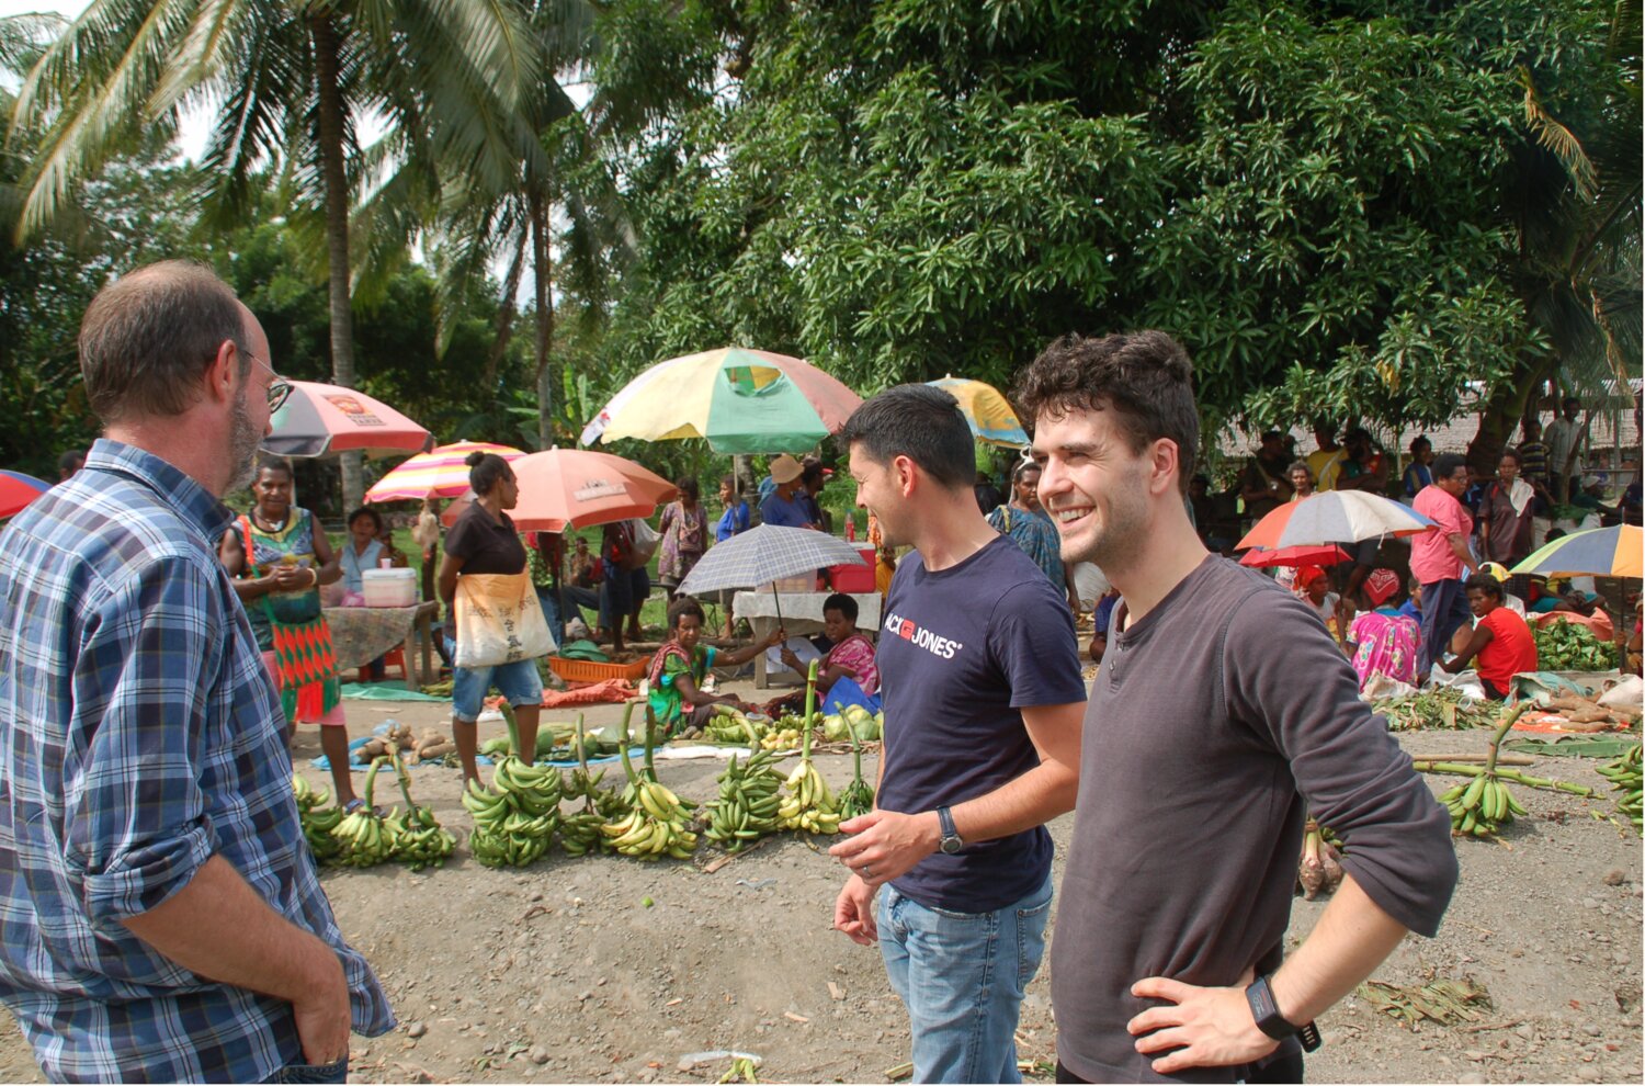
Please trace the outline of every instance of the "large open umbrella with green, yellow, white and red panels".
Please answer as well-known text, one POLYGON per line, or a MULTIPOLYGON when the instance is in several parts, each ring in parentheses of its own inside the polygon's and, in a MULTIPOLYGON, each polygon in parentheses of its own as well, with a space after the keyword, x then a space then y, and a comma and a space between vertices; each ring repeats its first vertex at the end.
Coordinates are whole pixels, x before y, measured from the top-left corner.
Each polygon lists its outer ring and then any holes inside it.
POLYGON ((804 452, 862 397, 785 354, 722 347, 658 362, 582 428, 582 444, 707 438, 716 452, 804 452))

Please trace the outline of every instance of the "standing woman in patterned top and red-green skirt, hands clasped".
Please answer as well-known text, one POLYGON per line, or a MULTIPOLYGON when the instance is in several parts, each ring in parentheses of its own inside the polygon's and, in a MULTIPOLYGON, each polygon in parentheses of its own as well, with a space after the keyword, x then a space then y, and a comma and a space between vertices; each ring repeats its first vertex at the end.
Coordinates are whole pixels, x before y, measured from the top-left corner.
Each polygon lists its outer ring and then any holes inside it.
POLYGON ((342 566, 326 533, 316 530, 314 513, 291 505, 290 464, 263 457, 252 497, 252 512, 224 533, 219 555, 280 691, 286 739, 298 724, 319 724, 337 805, 350 810, 359 800, 349 777, 349 721, 319 599, 319 587, 341 579, 342 566))

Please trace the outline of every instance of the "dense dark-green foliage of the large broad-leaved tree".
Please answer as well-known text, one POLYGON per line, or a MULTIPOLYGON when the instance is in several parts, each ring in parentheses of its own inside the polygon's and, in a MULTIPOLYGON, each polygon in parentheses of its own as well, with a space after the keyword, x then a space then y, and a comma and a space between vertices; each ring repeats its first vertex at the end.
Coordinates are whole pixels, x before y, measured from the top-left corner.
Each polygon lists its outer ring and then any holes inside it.
MULTIPOLYGON (((615 158, 645 239, 612 314, 625 370, 740 342, 864 392, 1002 382, 1064 331, 1156 326, 1212 421, 1436 423, 1469 382, 1569 360, 1525 288, 1543 258, 1515 194, 1538 156, 1568 171, 1522 71, 1550 115, 1607 123, 1632 86, 1638 150, 1637 48, 1607 53, 1615 12, 1589 0, 688 13, 725 74, 615 158)), ((1581 250, 1569 194, 1546 199, 1538 225, 1581 250)), ((1589 217, 1637 253, 1637 206, 1589 217)), ((1632 272, 1614 301, 1637 306, 1632 272)))

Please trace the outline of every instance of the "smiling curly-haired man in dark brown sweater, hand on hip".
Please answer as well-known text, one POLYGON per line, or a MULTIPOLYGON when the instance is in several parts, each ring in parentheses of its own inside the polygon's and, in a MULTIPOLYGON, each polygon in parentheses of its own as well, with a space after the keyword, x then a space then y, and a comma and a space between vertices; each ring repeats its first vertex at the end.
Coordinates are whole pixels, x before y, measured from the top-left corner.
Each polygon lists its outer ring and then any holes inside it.
POLYGON ((1063 559, 1097 563, 1124 597, 1051 946, 1058 1081, 1300 1083, 1313 1020, 1406 931, 1438 930, 1449 818, 1319 620, 1194 535, 1181 346, 1061 339, 1017 401, 1063 559), (1347 842, 1347 877, 1283 958, 1309 811, 1347 842))

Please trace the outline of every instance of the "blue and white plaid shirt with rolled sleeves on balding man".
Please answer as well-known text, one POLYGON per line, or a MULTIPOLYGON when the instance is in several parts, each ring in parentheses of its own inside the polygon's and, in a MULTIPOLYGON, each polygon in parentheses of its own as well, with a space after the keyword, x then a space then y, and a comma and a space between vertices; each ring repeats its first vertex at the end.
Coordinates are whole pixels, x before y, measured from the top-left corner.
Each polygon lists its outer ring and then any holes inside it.
POLYGON ((336 948, 357 1032, 395 1023, 303 841, 227 523, 176 467, 99 441, 0 533, 0 999, 51 1079, 255 1083, 301 1060, 290 1004, 120 923, 214 854, 336 948))

